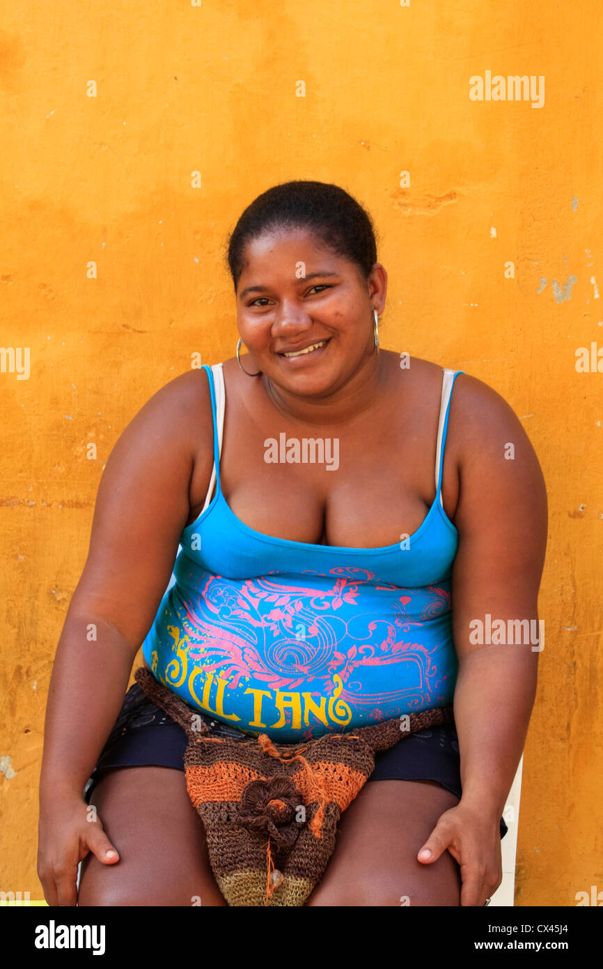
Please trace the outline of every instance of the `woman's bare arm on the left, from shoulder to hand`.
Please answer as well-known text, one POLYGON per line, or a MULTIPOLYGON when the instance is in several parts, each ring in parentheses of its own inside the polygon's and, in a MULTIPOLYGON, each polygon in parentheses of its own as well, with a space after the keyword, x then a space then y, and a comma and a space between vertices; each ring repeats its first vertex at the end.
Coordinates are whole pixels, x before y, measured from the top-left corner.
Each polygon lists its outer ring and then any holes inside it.
MULTIPOLYGON (((85 810, 84 784, 166 591, 190 516, 195 429, 202 427, 208 401, 207 381, 199 374, 171 381, 128 424, 106 463, 88 557, 58 643, 46 705, 38 867, 50 904, 57 903, 51 900, 52 882, 59 903, 62 898, 63 904, 75 904, 76 866, 87 849, 80 844, 75 857, 73 836, 70 854, 52 828, 69 813, 68 805, 85 810)), ((87 827, 98 838, 102 826, 87 827)))

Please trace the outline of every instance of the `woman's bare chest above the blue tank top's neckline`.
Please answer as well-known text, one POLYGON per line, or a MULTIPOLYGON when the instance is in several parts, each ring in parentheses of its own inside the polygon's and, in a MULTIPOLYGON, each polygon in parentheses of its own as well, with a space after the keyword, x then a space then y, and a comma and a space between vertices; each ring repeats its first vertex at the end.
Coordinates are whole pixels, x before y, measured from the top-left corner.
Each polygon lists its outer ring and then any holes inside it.
MULTIPOLYGON (((325 546, 393 545, 420 527, 435 500, 437 420, 429 409, 407 420, 368 415, 352 429, 281 420, 259 427, 232 408, 220 460, 223 495, 235 516, 265 535, 325 546)), ((459 483, 450 434, 443 458, 442 501, 452 519, 459 483)), ((190 521, 203 507, 212 466, 213 455, 196 463, 190 521)))

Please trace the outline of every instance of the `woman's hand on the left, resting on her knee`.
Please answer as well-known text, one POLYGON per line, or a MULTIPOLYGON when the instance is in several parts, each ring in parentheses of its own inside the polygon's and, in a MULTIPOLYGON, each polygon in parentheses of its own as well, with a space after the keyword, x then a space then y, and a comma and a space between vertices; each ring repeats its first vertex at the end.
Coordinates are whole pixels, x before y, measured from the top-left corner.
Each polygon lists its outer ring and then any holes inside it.
POLYGON ((81 797, 41 803, 38 877, 48 905, 77 904, 77 865, 90 852, 103 864, 119 861, 96 807, 81 797))

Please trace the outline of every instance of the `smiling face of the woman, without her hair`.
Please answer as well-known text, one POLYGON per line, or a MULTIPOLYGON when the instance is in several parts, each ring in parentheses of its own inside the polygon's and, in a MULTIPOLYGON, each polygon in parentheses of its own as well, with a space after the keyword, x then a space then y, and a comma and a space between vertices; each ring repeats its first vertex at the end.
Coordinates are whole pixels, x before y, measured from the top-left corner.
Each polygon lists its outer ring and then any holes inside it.
POLYGON ((368 281, 305 229, 258 236, 245 249, 237 287, 237 326, 251 373, 278 386, 316 393, 341 386, 376 356, 374 312, 385 302, 387 274, 376 263, 368 281), (298 357, 286 357, 316 343, 298 357))

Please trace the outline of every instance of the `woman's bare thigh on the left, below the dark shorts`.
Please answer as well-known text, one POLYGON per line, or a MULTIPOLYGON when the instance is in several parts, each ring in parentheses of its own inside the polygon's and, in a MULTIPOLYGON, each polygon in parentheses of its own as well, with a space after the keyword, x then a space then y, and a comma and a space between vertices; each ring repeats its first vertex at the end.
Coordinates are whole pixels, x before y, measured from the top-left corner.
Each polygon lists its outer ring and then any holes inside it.
POLYGON ((78 906, 226 905, 214 880, 203 824, 187 792, 183 770, 117 767, 90 797, 115 864, 89 854, 82 861, 78 906))

